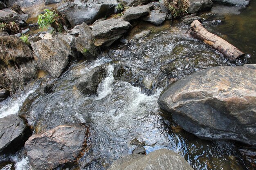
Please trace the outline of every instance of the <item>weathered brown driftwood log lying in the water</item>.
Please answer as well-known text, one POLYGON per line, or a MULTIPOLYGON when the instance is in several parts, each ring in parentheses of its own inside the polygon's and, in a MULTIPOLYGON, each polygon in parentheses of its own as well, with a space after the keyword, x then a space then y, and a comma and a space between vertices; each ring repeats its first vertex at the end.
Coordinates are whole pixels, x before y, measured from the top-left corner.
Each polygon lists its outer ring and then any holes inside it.
POLYGON ((189 35, 201 40, 204 42, 204 44, 211 46, 213 49, 218 50, 231 60, 235 60, 236 58, 245 55, 245 53, 238 50, 235 46, 229 44, 227 41, 223 40, 217 35, 214 35, 213 33, 208 32, 198 20, 191 23, 189 35))

